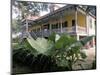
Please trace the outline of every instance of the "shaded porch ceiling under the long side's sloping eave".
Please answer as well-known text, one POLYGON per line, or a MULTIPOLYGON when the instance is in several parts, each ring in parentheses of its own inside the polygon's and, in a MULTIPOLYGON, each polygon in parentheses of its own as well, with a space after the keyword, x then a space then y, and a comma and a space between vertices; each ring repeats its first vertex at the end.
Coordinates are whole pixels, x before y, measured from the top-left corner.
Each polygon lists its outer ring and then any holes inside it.
MULTIPOLYGON (((66 15, 70 15, 70 14, 74 14, 75 10, 71 10, 71 11, 62 11, 53 15, 48 15, 45 18, 39 19, 37 21, 33 21, 33 25, 38 25, 38 24, 43 24, 43 23, 48 23, 50 21, 54 21, 54 20, 60 20, 62 17, 65 17, 66 15)), ((32 25, 32 26, 33 26, 32 25)))

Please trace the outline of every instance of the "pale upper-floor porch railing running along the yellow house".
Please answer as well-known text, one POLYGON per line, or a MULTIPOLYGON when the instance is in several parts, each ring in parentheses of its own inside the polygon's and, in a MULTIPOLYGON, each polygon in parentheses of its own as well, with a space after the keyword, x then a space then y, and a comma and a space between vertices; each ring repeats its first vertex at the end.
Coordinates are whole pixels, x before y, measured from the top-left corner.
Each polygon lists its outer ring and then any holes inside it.
POLYGON ((44 29, 44 30, 41 30, 41 31, 37 31, 37 32, 34 32, 38 37, 48 37, 52 32, 55 32, 55 33, 58 33, 58 34, 61 34, 61 33, 68 33, 68 34, 86 34, 86 28, 85 27, 80 27, 80 26, 72 26, 72 27, 66 27, 66 28, 58 28, 58 29, 52 29, 52 30, 49 30, 49 29, 44 29))

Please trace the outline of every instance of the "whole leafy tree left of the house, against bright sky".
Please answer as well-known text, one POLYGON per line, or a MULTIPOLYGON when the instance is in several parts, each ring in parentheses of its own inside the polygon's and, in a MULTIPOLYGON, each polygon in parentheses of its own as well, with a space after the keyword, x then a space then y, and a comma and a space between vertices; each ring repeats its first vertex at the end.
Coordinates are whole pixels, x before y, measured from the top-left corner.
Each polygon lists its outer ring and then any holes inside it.
POLYGON ((17 14, 16 18, 12 18, 13 32, 25 30, 22 20, 26 19, 28 15, 39 16, 41 11, 48 11, 47 3, 12 0, 12 17, 14 13, 17 14))

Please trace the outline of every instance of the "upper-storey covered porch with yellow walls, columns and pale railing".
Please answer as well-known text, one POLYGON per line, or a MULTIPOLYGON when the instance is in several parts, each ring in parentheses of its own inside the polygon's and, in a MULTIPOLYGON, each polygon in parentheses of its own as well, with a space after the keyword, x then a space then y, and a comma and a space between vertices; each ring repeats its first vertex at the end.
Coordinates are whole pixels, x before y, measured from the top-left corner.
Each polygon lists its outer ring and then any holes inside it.
POLYGON ((64 11, 50 13, 40 17, 29 28, 38 37, 48 37, 52 32, 61 34, 87 34, 86 14, 78 8, 70 8, 64 11))

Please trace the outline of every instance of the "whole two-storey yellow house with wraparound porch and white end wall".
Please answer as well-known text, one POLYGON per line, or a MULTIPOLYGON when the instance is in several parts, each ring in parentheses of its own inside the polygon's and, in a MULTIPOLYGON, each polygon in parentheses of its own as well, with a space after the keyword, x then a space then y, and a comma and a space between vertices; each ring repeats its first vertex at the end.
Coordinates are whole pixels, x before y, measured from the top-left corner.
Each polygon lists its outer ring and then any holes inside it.
MULTIPOLYGON (((96 17, 76 5, 64 6, 34 21, 27 20, 26 22, 29 24, 28 31, 33 37, 36 35, 47 38, 52 32, 55 32, 67 33, 80 40, 83 37, 95 35, 96 17)), ((87 47, 94 45, 95 39, 93 38, 87 47)))

